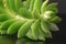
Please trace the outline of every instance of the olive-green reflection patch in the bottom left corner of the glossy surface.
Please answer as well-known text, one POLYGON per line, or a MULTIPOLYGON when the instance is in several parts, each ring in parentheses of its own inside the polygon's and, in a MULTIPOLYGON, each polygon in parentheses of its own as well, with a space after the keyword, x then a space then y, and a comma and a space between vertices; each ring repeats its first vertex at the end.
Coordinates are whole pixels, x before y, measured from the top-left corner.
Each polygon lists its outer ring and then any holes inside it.
POLYGON ((10 36, 0 35, 0 44, 15 44, 15 40, 10 36))

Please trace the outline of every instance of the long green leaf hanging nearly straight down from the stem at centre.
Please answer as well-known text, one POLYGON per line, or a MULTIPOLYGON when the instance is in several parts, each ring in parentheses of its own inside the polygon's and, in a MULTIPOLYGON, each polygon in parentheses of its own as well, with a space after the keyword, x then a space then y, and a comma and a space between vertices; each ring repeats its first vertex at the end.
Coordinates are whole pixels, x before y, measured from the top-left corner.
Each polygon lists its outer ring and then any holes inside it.
POLYGON ((40 20, 35 20, 35 22, 31 25, 31 30, 32 30, 32 35, 36 40, 38 36, 38 28, 40 28, 40 20))

